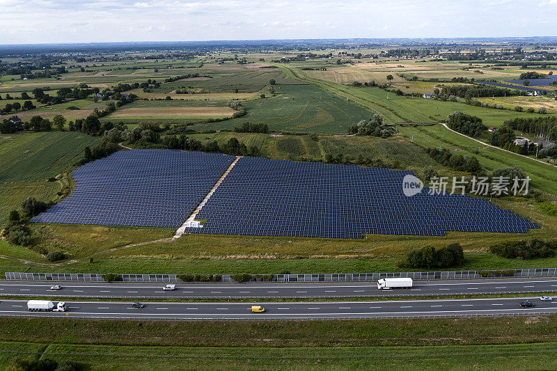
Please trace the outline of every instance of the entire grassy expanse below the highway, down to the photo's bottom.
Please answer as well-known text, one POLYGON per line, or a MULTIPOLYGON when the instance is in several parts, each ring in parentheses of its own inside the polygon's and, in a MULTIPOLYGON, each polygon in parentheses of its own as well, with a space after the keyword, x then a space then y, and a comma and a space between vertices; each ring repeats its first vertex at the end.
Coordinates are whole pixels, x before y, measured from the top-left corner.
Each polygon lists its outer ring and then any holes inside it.
POLYGON ((557 365, 554 315, 250 322, 0 318, 0 326, 3 368, 15 354, 72 359, 90 370, 345 370, 386 362, 404 370, 549 370, 557 365))

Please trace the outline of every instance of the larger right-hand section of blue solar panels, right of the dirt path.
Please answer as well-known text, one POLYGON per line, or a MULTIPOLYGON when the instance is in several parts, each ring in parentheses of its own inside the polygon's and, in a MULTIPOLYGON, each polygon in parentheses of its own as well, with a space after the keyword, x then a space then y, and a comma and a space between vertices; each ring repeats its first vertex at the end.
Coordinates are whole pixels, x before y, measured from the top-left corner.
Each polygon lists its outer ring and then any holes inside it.
POLYGON ((402 193, 411 171, 241 158, 186 232, 361 238, 445 231, 527 232, 538 228, 484 198, 402 193))

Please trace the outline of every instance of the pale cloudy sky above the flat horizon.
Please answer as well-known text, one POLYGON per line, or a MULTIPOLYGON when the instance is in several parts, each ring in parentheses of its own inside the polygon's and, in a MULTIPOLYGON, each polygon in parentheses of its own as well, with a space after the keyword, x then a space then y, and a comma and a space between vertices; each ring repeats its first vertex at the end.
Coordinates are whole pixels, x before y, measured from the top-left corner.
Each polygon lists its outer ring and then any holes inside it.
POLYGON ((557 0, 0 0, 0 44, 557 35, 557 0))

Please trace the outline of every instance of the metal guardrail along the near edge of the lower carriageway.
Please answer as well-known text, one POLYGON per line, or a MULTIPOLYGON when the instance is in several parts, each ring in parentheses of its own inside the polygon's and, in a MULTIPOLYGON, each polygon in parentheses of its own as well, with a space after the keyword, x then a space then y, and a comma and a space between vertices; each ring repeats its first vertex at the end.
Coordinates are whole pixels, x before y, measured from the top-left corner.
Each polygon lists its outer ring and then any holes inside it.
POLYGON ((466 314, 452 314, 452 315, 367 315, 367 316, 350 316, 350 317, 304 317, 304 316, 296 316, 296 317, 164 317, 164 318, 155 318, 155 317, 105 317, 105 316, 94 316, 94 315, 41 315, 40 313, 29 313, 29 314, 17 314, 17 313, 2 313, 0 317, 49 317, 49 318, 96 318, 96 319, 151 319, 156 321, 230 321, 235 319, 241 320, 250 320, 250 321, 261 321, 261 320, 290 320, 290 319, 305 319, 305 320, 323 320, 323 319, 377 319, 377 318, 389 318, 389 319, 408 319, 408 318, 462 318, 462 317, 515 317, 515 316, 522 316, 522 315, 555 315, 557 312, 531 312, 525 310, 524 312, 520 313, 466 313, 466 314))

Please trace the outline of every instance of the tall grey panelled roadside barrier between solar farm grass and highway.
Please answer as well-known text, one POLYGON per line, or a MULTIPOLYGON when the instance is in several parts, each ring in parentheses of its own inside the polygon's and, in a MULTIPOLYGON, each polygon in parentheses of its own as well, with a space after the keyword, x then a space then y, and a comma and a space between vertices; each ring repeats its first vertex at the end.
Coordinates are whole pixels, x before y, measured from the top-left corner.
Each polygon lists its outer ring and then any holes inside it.
MULTIPOLYGON (((121 282, 180 283, 176 274, 120 274, 121 282)), ((252 282, 265 282, 265 275, 253 275, 252 282), (259 278, 258 278, 259 276, 259 278)), ((493 277, 551 277, 557 276, 557 268, 508 269, 491 271, 429 271, 393 273, 327 273, 327 274, 273 274, 267 282, 361 282, 377 281, 381 278, 412 278, 415 281, 462 280, 493 277), (488 276, 482 273, 489 272, 488 276)), ((78 273, 21 273, 6 272, 10 281, 57 281, 57 282, 105 282, 101 274, 78 273)), ((223 274, 220 283, 234 283, 230 275, 223 274)), ((210 283, 210 282, 204 282, 210 283)))

